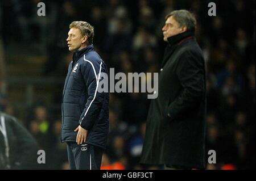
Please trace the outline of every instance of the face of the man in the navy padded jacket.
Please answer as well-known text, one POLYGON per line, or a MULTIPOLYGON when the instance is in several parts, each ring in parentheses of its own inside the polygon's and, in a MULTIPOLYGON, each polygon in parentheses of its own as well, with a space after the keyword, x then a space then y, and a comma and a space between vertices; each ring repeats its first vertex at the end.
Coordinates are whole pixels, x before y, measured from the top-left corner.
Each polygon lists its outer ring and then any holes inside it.
POLYGON ((84 48, 83 43, 85 43, 87 36, 82 36, 79 28, 71 28, 68 32, 68 50, 80 50, 84 48))

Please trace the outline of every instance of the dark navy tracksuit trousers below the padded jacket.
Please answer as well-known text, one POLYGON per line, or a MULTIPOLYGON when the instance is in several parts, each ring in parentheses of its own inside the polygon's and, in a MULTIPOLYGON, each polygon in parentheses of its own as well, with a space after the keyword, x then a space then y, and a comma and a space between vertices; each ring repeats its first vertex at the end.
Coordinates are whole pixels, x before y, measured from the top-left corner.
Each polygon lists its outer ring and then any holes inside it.
POLYGON ((67 142, 68 162, 71 170, 100 170, 102 149, 88 144, 67 142))

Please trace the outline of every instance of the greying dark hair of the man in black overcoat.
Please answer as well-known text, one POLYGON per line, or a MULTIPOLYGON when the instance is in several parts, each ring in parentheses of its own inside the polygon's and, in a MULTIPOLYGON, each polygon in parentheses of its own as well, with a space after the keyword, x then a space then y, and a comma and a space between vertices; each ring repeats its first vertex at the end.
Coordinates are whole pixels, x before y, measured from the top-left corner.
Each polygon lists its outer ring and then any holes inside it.
POLYGON ((188 10, 175 10, 166 16, 166 20, 172 16, 180 27, 187 27, 188 31, 195 32, 196 30, 196 18, 188 10))

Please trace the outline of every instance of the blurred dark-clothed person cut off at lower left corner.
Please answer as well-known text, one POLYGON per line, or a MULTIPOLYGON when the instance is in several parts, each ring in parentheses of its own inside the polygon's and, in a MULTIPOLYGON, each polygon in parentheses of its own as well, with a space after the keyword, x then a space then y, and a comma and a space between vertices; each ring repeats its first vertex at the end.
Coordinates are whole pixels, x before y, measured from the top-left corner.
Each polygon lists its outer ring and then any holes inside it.
POLYGON ((0 112, 0 170, 40 169, 38 144, 19 121, 0 112))

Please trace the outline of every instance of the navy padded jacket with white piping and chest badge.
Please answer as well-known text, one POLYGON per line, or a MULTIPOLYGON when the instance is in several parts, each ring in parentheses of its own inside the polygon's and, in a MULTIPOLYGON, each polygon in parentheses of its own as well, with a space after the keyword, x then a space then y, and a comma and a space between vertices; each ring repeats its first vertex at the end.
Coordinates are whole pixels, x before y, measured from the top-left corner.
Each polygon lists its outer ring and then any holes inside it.
POLYGON ((76 50, 63 90, 61 142, 76 142, 81 125, 88 130, 86 144, 106 148, 109 130, 109 93, 98 92, 101 74, 108 68, 93 45, 76 50))

